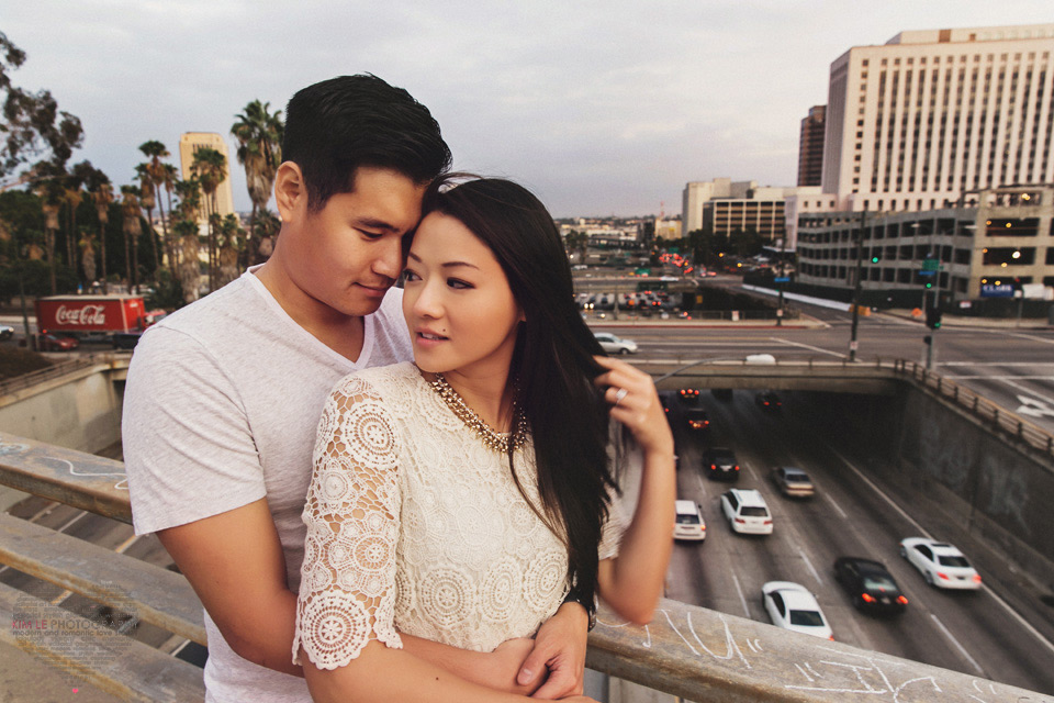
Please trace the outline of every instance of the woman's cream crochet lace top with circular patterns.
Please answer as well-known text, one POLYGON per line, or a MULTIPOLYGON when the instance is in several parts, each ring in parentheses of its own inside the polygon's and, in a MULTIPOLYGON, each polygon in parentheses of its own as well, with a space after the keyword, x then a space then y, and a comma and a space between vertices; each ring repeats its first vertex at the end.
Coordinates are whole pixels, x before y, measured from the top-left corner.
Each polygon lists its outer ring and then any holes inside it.
MULTIPOLYGON (((530 443, 516 451, 538 502, 530 443), (526 467, 530 467, 529 469, 526 467)), ((613 502, 602 559, 617 553, 613 502)), ((343 379, 323 411, 303 513, 293 660, 334 669, 406 633, 491 651, 529 637, 568 592, 568 553, 412 364, 343 379), (396 632, 397 631, 397 632, 396 632)))

